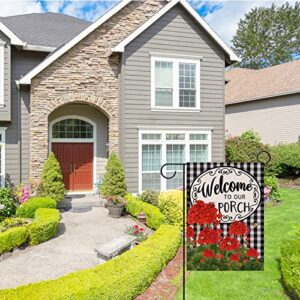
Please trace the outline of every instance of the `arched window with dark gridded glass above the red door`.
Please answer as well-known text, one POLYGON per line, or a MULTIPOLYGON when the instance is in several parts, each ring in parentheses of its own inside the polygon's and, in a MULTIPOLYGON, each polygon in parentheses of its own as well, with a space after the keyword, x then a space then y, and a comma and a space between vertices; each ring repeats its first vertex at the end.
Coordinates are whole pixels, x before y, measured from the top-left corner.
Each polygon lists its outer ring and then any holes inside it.
POLYGON ((52 127, 53 139, 92 139, 93 125, 80 119, 64 119, 52 127))

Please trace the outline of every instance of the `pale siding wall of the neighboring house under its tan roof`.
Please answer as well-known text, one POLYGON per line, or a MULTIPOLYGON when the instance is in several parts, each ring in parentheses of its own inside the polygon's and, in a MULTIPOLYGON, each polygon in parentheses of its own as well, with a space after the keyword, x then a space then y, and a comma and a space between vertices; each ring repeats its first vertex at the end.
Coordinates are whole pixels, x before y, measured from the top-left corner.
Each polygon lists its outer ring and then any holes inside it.
POLYGON ((231 135, 252 129, 268 144, 297 142, 300 94, 227 105, 225 128, 231 135))

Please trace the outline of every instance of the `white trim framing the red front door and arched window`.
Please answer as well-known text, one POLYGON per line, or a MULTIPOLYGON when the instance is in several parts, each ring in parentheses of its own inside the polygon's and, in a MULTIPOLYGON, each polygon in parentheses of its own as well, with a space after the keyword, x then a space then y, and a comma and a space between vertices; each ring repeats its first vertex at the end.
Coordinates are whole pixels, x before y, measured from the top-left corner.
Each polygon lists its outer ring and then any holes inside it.
MULTIPOLYGON (((93 159, 93 185, 97 183, 97 124, 89 118, 85 118, 78 115, 67 115, 60 118, 57 118, 49 123, 49 136, 48 136, 48 151, 49 153, 52 151, 52 143, 93 143, 93 151, 94 151, 94 159, 93 159), (52 128, 53 125, 59 121, 66 119, 79 119, 90 123, 93 126, 93 138, 92 139, 56 139, 52 138, 52 128)), ((94 187, 93 187, 94 189, 94 187)), ((81 192, 77 192, 76 194, 80 194, 81 192)), ((84 192, 82 192, 84 193, 84 192)))

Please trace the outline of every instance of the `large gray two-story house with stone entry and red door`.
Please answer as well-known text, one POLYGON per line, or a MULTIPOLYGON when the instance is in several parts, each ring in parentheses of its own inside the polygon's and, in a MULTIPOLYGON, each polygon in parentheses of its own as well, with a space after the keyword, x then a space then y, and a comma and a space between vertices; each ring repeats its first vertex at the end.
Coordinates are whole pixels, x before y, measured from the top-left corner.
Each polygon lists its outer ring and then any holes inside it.
POLYGON ((238 58, 186 1, 123 0, 92 24, 56 14, 8 20, 7 182, 38 179, 49 151, 76 192, 93 190, 109 151, 119 153, 130 192, 180 185, 180 176, 160 176, 166 162, 224 160, 224 67, 238 58))

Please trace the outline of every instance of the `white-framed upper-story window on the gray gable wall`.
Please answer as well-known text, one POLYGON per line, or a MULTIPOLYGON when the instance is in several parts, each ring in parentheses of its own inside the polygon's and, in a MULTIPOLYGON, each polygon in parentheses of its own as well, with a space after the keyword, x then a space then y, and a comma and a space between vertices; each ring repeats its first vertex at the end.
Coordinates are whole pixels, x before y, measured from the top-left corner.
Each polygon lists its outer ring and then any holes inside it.
POLYGON ((200 109, 200 60, 151 57, 152 108, 200 109))

